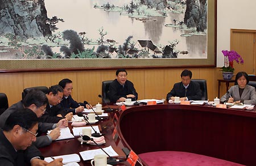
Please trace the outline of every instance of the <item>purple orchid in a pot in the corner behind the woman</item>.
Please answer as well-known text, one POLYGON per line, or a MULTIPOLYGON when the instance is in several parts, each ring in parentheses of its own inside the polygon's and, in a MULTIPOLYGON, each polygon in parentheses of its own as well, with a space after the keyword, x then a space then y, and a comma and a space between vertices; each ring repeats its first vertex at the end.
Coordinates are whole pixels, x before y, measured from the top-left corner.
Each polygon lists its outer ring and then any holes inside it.
POLYGON ((238 64, 243 64, 243 59, 240 54, 234 50, 222 50, 221 52, 224 55, 224 66, 220 68, 220 71, 222 71, 224 79, 232 79, 234 73, 234 61, 238 64))

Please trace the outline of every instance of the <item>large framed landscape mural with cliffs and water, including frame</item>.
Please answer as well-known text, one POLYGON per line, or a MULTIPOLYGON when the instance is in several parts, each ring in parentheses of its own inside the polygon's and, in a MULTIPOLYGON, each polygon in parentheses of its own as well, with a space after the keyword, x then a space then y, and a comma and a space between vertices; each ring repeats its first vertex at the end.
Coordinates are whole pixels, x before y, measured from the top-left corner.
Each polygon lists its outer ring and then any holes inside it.
POLYGON ((215 67, 216 1, 2 1, 0 68, 215 67))

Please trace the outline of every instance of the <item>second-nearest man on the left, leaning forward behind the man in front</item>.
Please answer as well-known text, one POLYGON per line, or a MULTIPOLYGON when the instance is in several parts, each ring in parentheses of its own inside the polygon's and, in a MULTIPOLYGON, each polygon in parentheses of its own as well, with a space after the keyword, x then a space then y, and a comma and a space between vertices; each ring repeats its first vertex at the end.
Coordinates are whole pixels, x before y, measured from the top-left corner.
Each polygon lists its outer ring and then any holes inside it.
MULTIPOLYGON (((29 108, 31 109, 36 116, 41 117, 46 110, 47 97, 44 92, 40 90, 30 90, 22 101, 19 101, 16 104, 11 105, 8 109, 3 112, 0 116, 0 127, 2 128, 5 125, 7 118, 11 113, 16 112, 19 109, 29 108)), ((33 143, 36 147, 48 146, 52 143, 53 140, 57 139, 60 136, 60 129, 68 126, 67 119, 60 120, 57 124, 50 123, 38 123, 38 137, 33 143), (53 129, 53 130, 52 130, 53 129), (41 133, 47 133, 48 130, 52 130, 49 135, 42 135, 41 133)))

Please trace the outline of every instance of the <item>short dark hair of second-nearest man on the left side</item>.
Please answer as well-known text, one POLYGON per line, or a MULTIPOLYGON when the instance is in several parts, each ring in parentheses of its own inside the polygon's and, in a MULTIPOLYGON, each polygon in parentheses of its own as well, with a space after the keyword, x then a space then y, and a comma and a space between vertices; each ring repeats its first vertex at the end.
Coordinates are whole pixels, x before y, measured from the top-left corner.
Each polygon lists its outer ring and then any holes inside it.
POLYGON ((38 89, 32 89, 28 91, 27 95, 22 100, 25 108, 30 107, 31 104, 35 104, 36 107, 42 107, 42 105, 46 105, 47 102, 48 99, 46 94, 38 89))

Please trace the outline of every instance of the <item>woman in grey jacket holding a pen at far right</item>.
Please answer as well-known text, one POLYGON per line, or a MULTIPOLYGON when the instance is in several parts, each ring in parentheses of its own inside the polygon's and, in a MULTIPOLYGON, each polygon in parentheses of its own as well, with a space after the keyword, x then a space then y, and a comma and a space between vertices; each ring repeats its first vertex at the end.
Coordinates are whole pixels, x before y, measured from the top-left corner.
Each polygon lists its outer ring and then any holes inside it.
POLYGON ((255 88, 248 85, 249 76, 241 71, 237 73, 235 86, 230 87, 229 91, 221 97, 221 102, 256 104, 255 88))

